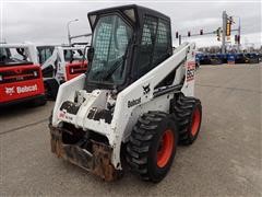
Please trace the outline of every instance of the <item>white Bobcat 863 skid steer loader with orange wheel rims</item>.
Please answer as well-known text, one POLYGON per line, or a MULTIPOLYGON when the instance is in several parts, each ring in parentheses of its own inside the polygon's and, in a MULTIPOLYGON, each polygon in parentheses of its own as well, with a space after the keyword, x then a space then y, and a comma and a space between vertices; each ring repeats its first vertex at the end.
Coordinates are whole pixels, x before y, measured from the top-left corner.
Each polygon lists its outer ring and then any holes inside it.
POLYGON ((200 130, 195 46, 184 43, 172 51, 170 19, 147 8, 123 5, 87 16, 88 69, 59 88, 51 151, 106 181, 130 169, 157 183, 178 142, 191 144, 200 130))

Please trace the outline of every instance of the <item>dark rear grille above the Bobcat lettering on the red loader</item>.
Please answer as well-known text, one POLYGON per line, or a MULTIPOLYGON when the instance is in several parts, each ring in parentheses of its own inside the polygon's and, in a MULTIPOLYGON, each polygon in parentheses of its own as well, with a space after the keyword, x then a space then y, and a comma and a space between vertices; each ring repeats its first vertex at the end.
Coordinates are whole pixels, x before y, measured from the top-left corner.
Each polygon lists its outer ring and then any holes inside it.
POLYGON ((15 70, 2 71, 0 72, 0 84, 2 83, 12 83, 17 81, 27 81, 39 78, 38 69, 24 69, 20 72, 15 70))

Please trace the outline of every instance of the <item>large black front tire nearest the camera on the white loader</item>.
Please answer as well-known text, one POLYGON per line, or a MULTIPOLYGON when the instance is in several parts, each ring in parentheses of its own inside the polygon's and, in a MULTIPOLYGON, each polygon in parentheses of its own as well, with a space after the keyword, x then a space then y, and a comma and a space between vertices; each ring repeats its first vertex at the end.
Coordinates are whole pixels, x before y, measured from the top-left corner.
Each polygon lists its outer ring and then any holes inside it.
MULTIPOLYGON (((127 144, 127 163, 131 171, 144 181, 160 182, 168 173, 177 149, 177 127, 174 116, 162 112, 150 112, 141 116, 127 144), (170 135, 171 149, 159 166, 159 144, 164 134, 170 135)), ((163 147, 163 146, 162 146, 163 147)), ((160 148, 162 151, 163 148, 160 148)))

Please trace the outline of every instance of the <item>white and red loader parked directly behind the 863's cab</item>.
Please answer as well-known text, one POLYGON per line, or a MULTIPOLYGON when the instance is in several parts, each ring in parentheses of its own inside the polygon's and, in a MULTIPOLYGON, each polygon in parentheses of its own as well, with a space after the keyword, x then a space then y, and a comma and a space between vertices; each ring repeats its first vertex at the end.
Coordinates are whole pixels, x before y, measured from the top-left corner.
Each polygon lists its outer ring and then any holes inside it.
POLYGON ((59 85, 81 73, 85 73, 87 62, 83 61, 84 46, 36 45, 41 67, 46 95, 56 100, 59 85))

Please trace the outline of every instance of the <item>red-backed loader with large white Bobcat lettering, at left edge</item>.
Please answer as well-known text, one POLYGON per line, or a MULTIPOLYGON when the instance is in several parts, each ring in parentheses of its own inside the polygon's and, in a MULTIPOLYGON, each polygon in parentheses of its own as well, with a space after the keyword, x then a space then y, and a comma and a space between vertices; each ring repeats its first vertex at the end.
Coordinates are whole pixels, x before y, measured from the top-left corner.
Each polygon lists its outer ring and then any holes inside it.
POLYGON ((0 107, 46 104, 36 53, 29 44, 0 44, 0 107))

